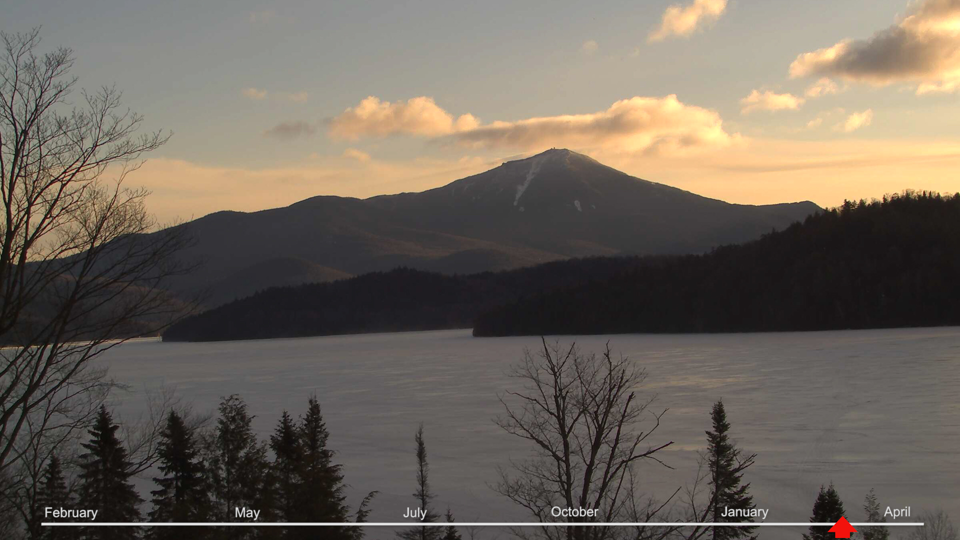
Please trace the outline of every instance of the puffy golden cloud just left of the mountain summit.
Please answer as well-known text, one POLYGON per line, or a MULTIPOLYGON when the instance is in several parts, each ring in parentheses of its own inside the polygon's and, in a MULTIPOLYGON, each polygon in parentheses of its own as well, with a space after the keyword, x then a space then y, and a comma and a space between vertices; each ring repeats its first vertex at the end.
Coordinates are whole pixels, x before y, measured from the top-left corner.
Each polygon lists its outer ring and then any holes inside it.
POLYGON ((327 121, 333 138, 357 140, 361 136, 449 135, 479 124, 472 114, 453 115, 441 109, 431 97, 420 96, 390 103, 368 96, 355 107, 327 121))

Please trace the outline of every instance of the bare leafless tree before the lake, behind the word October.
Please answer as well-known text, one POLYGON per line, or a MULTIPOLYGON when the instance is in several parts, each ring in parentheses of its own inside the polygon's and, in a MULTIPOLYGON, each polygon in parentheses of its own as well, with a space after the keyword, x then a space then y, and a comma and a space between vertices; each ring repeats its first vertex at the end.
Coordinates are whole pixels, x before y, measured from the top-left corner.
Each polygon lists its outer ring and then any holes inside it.
POLYGON ((540 523, 571 525, 544 526, 533 534, 516 530, 516 534, 568 540, 665 536, 665 529, 650 533, 573 525, 637 516, 649 521, 666 504, 645 500, 639 490, 636 465, 652 461, 668 467, 656 454, 673 444, 647 443, 666 410, 649 410, 654 398, 636 394, 646 373, 629 358, 614 358, 609 344, 600 356, 581 354, 575 344, 564 349, 548 345, 545 339, 542 344, 539 354, 525 351, 509 374, 523 380, 523 390, 501 396, 505 413, 496 420, 503 430, 533 443, 534 456, 514 461, 512 472, 501 471, 495 489, 540 523), (652 425, 639 430, 646 418, 652 425), (595 510, 595 514, 557 515, 557 508, 595 510))

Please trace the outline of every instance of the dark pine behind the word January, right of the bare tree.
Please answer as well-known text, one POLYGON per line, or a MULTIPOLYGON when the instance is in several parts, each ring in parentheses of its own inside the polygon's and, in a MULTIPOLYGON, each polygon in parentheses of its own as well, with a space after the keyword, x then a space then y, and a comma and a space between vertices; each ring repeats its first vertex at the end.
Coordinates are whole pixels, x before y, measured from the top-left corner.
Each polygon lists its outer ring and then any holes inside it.
MULTIPOLYGON (((754 521, 749 517, 724 517, 724 508, 750 509, 754 507, 754 498, 749 494, 750 483, 741 485, 743 471, 754 464, 756 454, 744 456, 730 440, 730 423, 723 402, 713 405, 710 413, 713 430, 707 431, 707 454, 710 470, 711 521, 743 523, 754 521)), ((713 540, 750 538, 756 527, 714 527, 713 540)))

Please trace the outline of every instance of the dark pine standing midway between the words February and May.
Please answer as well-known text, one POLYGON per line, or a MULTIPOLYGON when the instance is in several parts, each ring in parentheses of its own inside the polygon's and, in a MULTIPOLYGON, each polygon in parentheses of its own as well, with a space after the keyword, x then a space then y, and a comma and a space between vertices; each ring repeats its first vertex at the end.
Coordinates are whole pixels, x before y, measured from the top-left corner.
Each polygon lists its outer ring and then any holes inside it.
MULTIPOLYGON (((156 522, 204 522, 210 518, 210 499, 204 480, 204 463, 200 458, 194 432, 180 415, 171 410, 167 424, 160 432, 157 469, 162 477, 154 478, 159 489, 151 491, 154 509, 150 520, 156 522)), ((205 538, 207 528, 157 527, 148 532, 156 540, 205 538)))

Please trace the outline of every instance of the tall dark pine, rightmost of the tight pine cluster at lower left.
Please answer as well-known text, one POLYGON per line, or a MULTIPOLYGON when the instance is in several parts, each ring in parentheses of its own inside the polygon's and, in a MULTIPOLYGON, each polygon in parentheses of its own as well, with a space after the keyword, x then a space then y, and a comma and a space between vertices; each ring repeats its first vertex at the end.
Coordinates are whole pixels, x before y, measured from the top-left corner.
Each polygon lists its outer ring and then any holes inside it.
MULTIPOLYGON (((307 401, 306 415, 300 419, 301 466, 300 496, 297 503, 303 522, 345 523, 349 508, 344 503, 344 476, 341 466, 333 463, 333 451, 327 447, 329 432, 317 396, 307 401)), ((313 538, 309 530, 296 531, 297 538, 313 538)), ((354 531, 348 528, 324 528, 324 538, 349 539, 354 531)))

